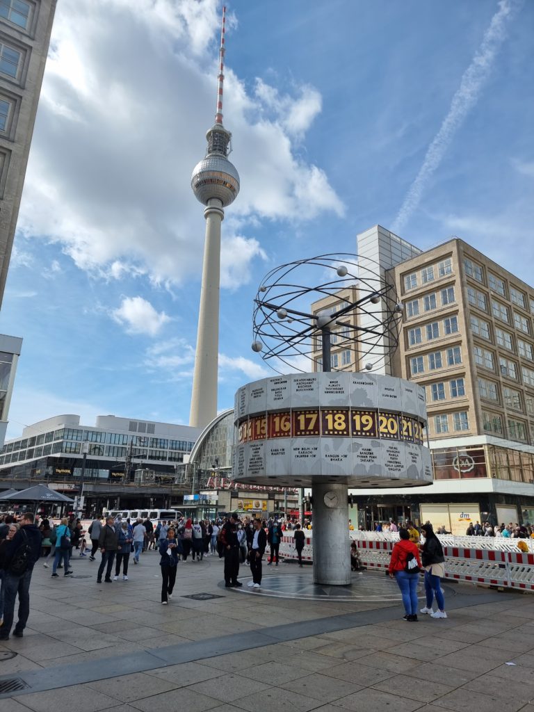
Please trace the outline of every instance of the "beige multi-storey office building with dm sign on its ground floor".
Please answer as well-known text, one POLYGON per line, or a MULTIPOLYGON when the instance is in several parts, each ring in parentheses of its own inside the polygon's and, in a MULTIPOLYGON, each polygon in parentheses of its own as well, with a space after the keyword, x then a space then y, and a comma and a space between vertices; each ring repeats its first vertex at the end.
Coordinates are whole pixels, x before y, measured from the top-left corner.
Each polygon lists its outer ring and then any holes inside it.
MULTIPOLYGON (((387 232, 362 234, 365 249, 387 232)), ((391 372, 425 387, 434 483, 355 490, 360 523, 411 517, 465 533, 470 520, 533 522, 534 287, 461 239, 410 247, 413 256, 384 263, 404 305, 391 372)), ((342 333, 332 352, 335 370, 362 369, 342 333)))

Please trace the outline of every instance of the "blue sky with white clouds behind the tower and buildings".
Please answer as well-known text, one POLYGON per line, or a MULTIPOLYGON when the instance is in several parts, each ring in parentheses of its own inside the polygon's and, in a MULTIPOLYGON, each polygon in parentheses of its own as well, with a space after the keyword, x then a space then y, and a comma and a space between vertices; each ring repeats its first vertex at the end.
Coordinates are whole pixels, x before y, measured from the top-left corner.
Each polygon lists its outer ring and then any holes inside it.
MULTIPOLYGON (((219 409, 271 371, 253 298, 375 224, 459 236, 534 284, 534 3, 227 2, 219 409)), ((187 424, 221 2, 60 0, 0 330, 8 437, 58 414, 187 424)))

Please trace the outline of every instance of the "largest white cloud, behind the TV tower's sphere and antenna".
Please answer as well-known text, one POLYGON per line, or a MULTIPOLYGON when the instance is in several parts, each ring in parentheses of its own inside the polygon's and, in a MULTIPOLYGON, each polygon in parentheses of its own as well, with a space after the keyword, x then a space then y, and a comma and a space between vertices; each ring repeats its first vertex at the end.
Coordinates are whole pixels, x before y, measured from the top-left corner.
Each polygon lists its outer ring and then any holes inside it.
MULTIPOLYGON (((189 180, 214 117, 219 11, 218 0, 58 4, 19 218, 25 236, 61 244, 100 279, 171 287, 196 278, 204 219, 189 180)), ((320 95, 308 86, 295 98, 247 93, 231 71, 231 41, 229 32, 224 115, 241 193, 228 217, 342 214, 325 173, 295 154, 320 95)), ((263 251, 228 220, 223 235, 243 247, 238 267, 223 266, 232 288, 263 251)))

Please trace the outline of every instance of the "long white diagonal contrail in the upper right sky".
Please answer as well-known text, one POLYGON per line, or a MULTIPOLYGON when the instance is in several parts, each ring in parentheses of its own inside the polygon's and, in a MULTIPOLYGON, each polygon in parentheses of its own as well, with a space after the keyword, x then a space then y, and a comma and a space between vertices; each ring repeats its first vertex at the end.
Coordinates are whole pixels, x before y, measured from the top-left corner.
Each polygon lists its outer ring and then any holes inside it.
POLYGON ((441 163, 454 134, 478 101, 483 83, 488 78, 493 61, 506 38, 506 25, 521 4, 523 4, 523 0, 501 0, 499 2, 499 9, 491 18, 481 46, 461 78, 460 87, 452 99, 449 113, 426 151, 422 167, 397 213, 392 225, 392 231, 395 233, 398 234, 399 230, 402 230, 419 205, 426 184, 441 163))

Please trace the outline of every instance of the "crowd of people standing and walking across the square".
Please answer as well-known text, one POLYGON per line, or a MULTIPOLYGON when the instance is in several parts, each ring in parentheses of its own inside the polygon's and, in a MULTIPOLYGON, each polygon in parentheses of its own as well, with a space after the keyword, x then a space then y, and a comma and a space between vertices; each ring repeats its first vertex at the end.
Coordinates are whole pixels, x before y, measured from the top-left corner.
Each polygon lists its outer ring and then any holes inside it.
MULTIPOLYGON (((19 620, 13 635, 22 637, 29 614, 29 587, 33 566, 43 558, 43 566, 52 565, 52 578, 58 578, 58 570, 63 577, 73 575, 73 557, 88 557, 95 561, 100 552, 96 580, 112 583, 128 580, 130 556, 134 565, 140 564, 140 555, 155 551, 159 554, 162 576, 161 602, 167 605, 172 598, 176 580, 177 565, 180 561, 201 562, 204 557, 217 555, 224 559, 224 583, 226 587, 241 587, 238 580, 240 565, 250 567, 251 580, 248 586, 261 588, 262 562, 269 547, 268 566, 278 566, 280 545, 283 536, 290 536, 297 553, 298 564, 303 566, 305 531, 310 523, 301 525, 298 520, 276 518, 249 518, 242 520, 231 513, 224 519, 197 520, 182 517, 179 520, 150 519, 135 521, 117 518, 95 518, 87 530, 83 523, 71 515, 59 523, 43 518, 34 519, 32 513, 19 517, 6 515, 0 523, 0 640, 9 639, 14 620, 14 605, 19 597, 19 620), (85 536, 90 539, 90 546, 85 536)), ((359 527, 361 529, 362 527, 359 527)), ((354 526, 349 520, 349 530, 354 526)), ((426 605, 420 610, 434 618, 446 618, 444 593, 441 579, 444 578, 444 553, 436 533, 446 533, 440 527, 434 533, 431 523, 419 529, 410 520, 397 523, 375 523, 375 530, 398 532, 399 541, 394 545, 389 575, 397 580, 404 603, 404 619, 417 621, 417 584, 419 573, 424 573, 426 605), (433 603, 437 608, 434 610, 433 603)), ((468 535, 501 536, 525 539, 534 538, 534 526, 508 525, 492 526, 478 521, 470 524, 468 535)), ((519 543, 520 544, 520 543, 519 543)), ((350 546, 352 570, 363 570, 360 553, 355 540, 350 546)))

